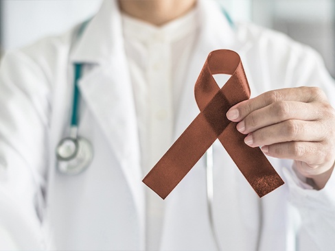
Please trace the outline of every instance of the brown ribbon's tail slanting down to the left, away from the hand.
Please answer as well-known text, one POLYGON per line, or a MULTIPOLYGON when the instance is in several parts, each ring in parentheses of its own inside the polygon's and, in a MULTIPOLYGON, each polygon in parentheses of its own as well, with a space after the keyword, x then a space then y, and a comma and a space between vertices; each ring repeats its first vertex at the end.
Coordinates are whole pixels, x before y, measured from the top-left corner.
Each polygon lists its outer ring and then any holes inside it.
POLYGON ((142 181, 164 200, 217 137, 200 113, 142 181))

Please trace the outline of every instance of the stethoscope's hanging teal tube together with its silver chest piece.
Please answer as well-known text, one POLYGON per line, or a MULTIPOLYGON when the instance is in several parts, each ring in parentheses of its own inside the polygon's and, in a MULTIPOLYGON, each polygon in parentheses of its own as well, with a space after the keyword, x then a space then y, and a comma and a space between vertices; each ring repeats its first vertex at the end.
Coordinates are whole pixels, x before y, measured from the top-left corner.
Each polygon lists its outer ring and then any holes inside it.
POLYGON ((78 136, 78 106, 79 88, 78 82, 82 72, 82 64, 74 64, 74 90, 72 117, 69 136, 62 139, 56 147, 58 171, 60 174, 75 175, 84 171, 93 159, 93 147, 82 136, 78 136))

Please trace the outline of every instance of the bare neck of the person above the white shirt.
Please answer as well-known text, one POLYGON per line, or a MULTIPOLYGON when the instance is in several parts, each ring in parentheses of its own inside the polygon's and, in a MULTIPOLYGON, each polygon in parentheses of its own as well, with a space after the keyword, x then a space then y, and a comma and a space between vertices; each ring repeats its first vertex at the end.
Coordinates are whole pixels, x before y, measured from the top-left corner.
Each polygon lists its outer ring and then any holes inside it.
POLYGON ((196 0, 119 0, 122 12, 153 25, 163 25, 183 16, 196 0))

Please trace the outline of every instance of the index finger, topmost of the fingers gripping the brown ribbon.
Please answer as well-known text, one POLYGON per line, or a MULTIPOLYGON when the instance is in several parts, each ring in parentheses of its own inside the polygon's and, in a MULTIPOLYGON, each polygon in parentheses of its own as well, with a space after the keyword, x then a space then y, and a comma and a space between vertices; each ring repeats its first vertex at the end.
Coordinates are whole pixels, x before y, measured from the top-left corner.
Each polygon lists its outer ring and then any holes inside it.
POLYGON ((227 112, 227 119, 233 122, 241 121, 254 110, 264 108, 277 101, 301 101, 310 103, 315 99, 323 99, 324 96, 320 88, 306 86, 268 91, 232 106, 227 112))

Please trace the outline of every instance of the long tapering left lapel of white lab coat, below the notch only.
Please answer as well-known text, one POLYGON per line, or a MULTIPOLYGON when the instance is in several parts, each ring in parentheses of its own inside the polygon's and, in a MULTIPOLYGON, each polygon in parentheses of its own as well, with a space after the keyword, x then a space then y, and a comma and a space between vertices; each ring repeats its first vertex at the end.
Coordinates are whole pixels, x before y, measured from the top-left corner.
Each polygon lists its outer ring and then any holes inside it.
MULTIPOLYGON (((117 158, 132 193, 140 227, 144 227, 144 186, 132 86, 125 57, 95 67, 78 82, 80 95, 93 113, 111 154, 117 158)), ((115 168, 115 167, 111 167, 115 168)), ((139 232, 143 232, 139 230, 139 232)))

